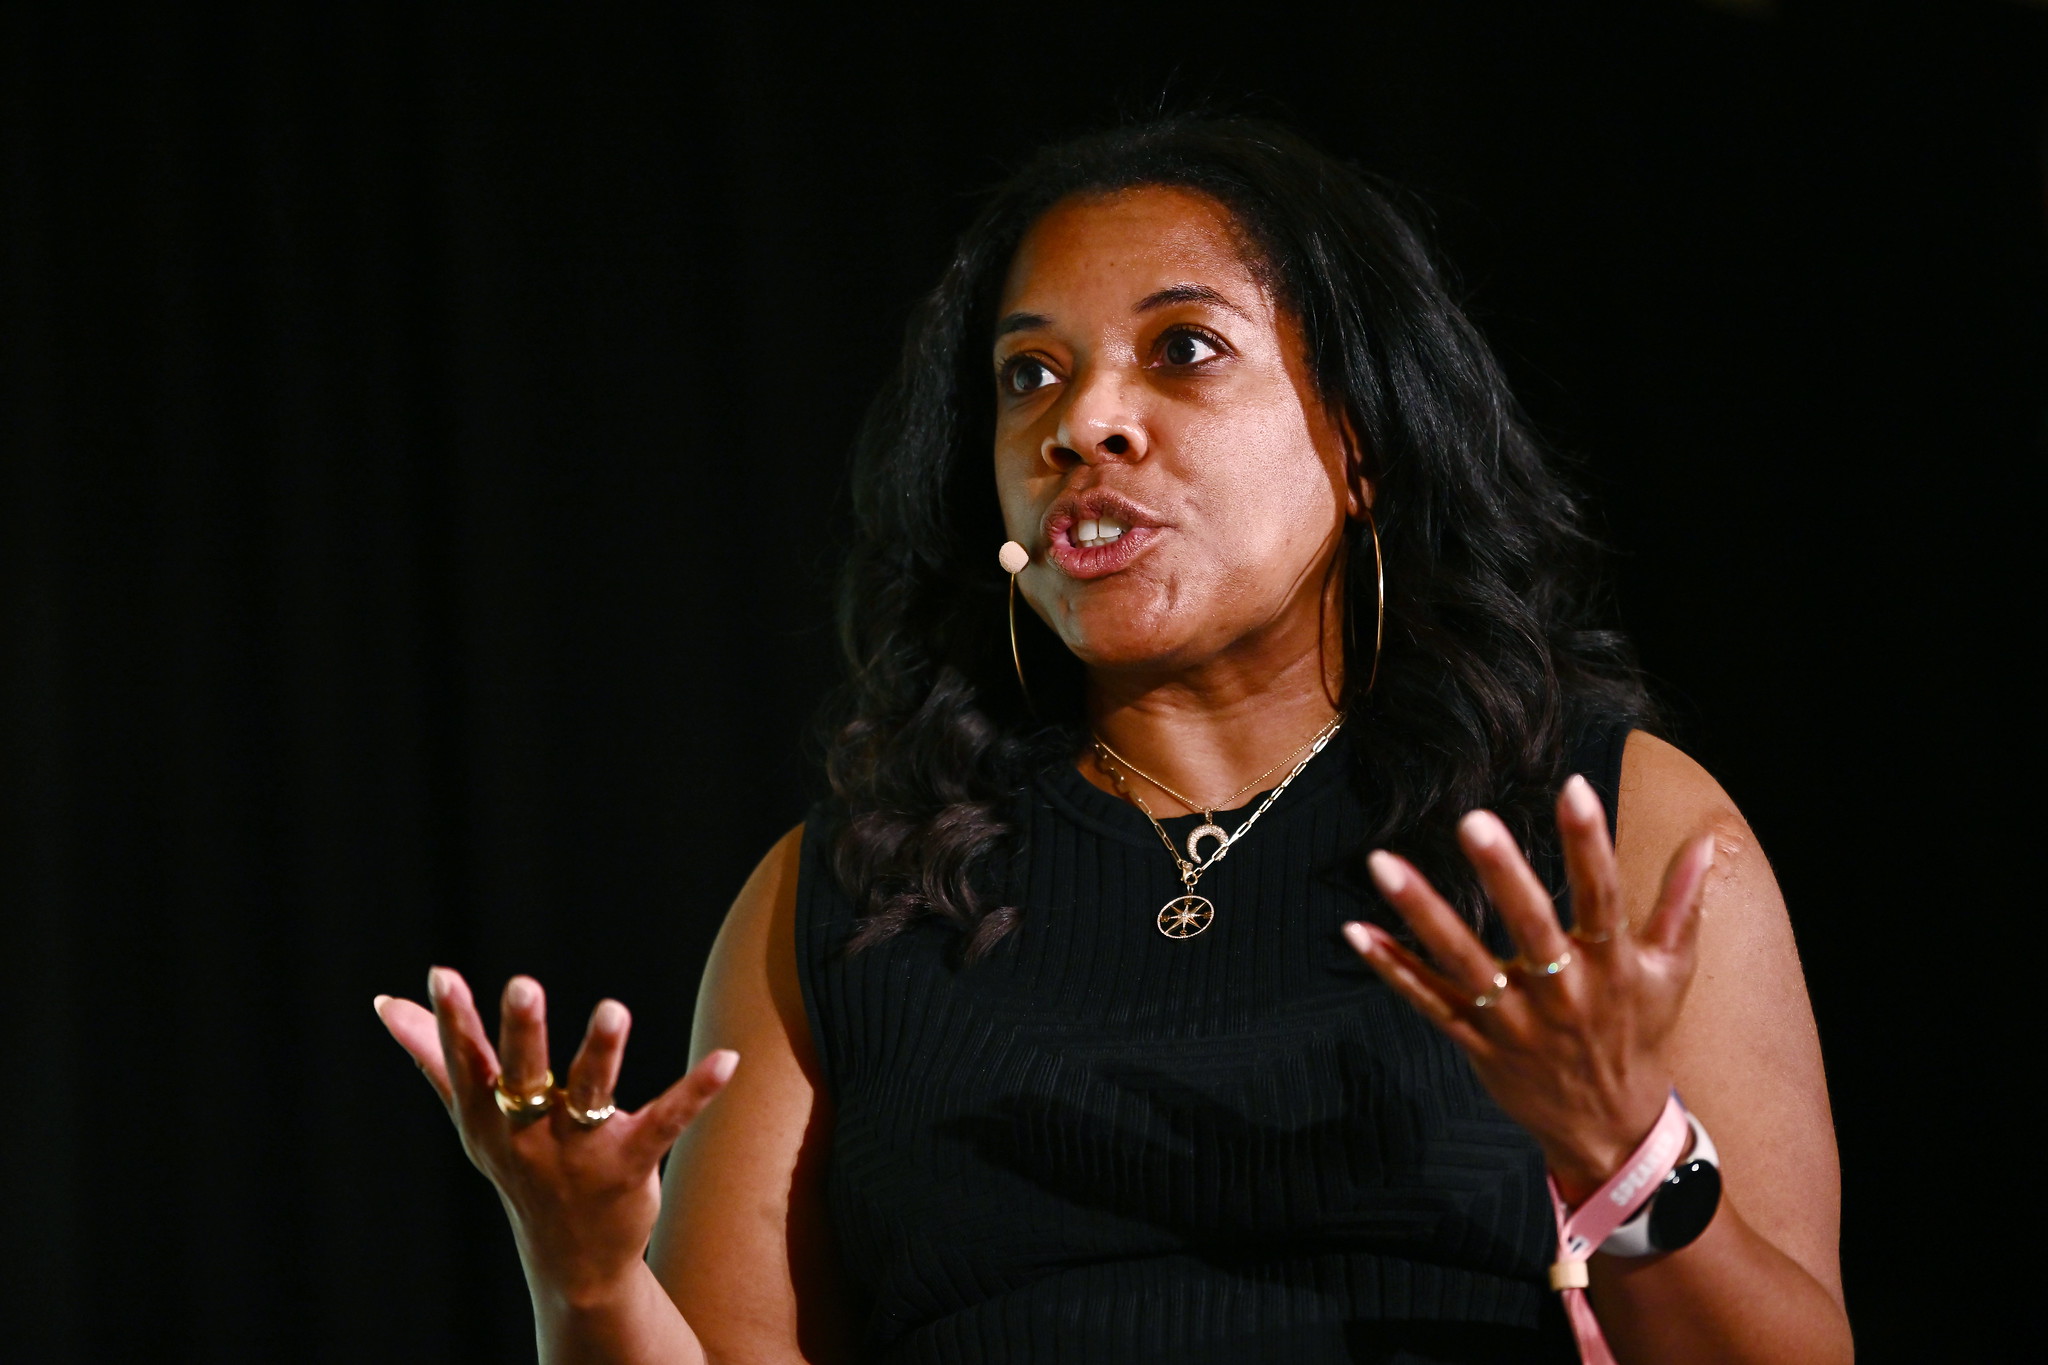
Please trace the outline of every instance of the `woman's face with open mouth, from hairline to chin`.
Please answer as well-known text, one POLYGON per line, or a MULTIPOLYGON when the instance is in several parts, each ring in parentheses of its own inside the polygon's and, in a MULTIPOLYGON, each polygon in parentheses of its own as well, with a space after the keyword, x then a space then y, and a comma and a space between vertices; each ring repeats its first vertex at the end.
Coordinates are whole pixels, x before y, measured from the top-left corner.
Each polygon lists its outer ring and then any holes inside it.
POLYGON ((1343 428, 1231 215, 1180 188, 1055 205, 995 336, 995 483, 1020 587, 1092 669, 1319 647, 1358 516, 1343 428))

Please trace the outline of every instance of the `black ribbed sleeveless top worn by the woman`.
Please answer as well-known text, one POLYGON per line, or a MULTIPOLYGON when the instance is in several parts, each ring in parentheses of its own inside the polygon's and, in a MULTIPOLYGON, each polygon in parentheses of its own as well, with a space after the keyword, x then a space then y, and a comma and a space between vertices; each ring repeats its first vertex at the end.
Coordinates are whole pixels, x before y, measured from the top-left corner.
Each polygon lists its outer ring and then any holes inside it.
MULTIPOLYGON (((1575 751, 1610 829, 1624 741, 1575 751)), ((1157 929, 1180 878, 1145 817, 1042 776, 1020 921, 967 968, 932 921, 846 956, 807 823, 799 972, 862 1359, 1577 1359, 1534 1140, 1339 935, 1366 911, 1329 872, 1364 837, 1348 767, 1339 733, 1202 878, 1188 939, 1157 929)), ((1561 884, 1554 853, 1538 872, 1561 884)))

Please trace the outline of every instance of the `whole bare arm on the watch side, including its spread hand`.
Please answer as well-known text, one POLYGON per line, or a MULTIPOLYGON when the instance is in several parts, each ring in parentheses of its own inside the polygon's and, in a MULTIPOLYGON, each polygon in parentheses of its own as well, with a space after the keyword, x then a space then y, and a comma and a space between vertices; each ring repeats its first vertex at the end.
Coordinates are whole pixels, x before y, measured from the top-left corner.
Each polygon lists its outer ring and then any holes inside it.
POLYGON ((1593 1257, 1591 1302, 1618 1361, 1849 1361, 1821 1050, 1755 837, 1698 763, 1647 735, 1624 757, 1620 847, 1583 784, 1561 798, 1559 829, 1589 943, 1563 935, 1499 821, 1466 817, 1460 837, 1524 958, 1571 952, 1569 972, 1524 972, 1475 1009, 1499 968, 1413 866, 1378 853, 1380 888, 1436 966, 1364 925, 1352 941, 1458 1040, 1567 1201, 1622 1164, 1671 1085, 1714 1134, 1724 1199, 1708 1230, 1665 1257, 1593 1257))

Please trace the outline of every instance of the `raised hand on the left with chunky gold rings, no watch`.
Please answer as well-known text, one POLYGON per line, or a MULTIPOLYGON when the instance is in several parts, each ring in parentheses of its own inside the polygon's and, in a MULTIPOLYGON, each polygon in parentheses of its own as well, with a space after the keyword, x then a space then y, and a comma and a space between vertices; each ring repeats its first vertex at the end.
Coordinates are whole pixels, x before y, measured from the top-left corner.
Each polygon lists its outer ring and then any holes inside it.
POLYGON ((641 1265, 662 1207, 662 1156, 731 1078, 739 1054, 713 1052, 641 1109, 621 1109, 582 1128, 569 1109, 598 1111, 612 1103, 633 1023, 625 1005, 602 1001, 569 1064, 567 1093, 547 1113, 516 1119, 498 1109, 492 1091, 500 1070, 512 1095, 532 1093, 547 1078, 541 982, 530 976, 506 982, 496 1050, 459 972, 436 966, 426 988, 432 1013, 379 995, 377 1017, 440 1095, 469 1160, 498 1187, 535 1295, 563 1304, 602 1300, 641 1265))

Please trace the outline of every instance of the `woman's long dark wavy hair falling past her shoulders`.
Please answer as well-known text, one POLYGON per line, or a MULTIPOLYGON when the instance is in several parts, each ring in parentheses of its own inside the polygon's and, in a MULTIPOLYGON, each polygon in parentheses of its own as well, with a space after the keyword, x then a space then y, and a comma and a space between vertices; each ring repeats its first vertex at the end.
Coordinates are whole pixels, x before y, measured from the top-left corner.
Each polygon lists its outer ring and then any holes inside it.
MULTIPOLYGON (((1499 364, 1452 301, 1397 194, 1294 133, 1169 117, 1038 151, 961 237, 909 323, 854 452, 854 546, 840 585, 850 673, 827 722, 831 868, 858 952, 920 917, 963 960, 1018 919, 995 905, 1008 806, 1087 743, 1081 665, 1018 612, 1038 710, 1006 632, 989 344, 1018 241, 1055 203, 1176 186, 1231 211, 1315 387, 1350 415, 1386 565, 1386 641, 1346 669, 1346 726, 1370 839, 1395 845, 1477 923, 1483 898, 1454 825, 1489 806, 1528 845, 1550 833, 1569 737, 1649 722, 1628 643, 1597 626, 1597 546, 1522 420, 1499 364)), ((1372 546, 1343 555, 1348 639, 1370 651, 1372 546)), ((1364 884, 1360 880, 1360 884, 1364 884)))

